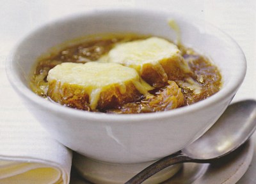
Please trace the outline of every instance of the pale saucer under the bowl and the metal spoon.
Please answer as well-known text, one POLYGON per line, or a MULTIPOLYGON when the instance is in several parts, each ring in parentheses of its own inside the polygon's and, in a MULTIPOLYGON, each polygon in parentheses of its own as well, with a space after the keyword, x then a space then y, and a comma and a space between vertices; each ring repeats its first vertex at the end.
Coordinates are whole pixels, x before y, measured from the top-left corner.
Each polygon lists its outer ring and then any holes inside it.
MULTIPOLYGON (((213 164, 195 164, 186 163, 170 180, 161 184, 234 184, 246 172, 253 157, 253 141, 252 139, 237 150, 232 155, 223 157, 223 159, 213 164)), ((84 181, 72 169, 70 184, 92 184, 84 181)))

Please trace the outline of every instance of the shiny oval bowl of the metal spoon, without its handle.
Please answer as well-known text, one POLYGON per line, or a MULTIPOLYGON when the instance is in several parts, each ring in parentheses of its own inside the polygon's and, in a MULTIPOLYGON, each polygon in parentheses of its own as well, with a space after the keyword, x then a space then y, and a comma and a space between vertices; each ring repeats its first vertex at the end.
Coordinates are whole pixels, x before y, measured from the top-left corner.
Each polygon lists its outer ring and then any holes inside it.
POLYGON ((228 106, 219 120, 202 137, 182 149, 193 159, 215 159, 241 146, 256 129, 255 101, 228 106))

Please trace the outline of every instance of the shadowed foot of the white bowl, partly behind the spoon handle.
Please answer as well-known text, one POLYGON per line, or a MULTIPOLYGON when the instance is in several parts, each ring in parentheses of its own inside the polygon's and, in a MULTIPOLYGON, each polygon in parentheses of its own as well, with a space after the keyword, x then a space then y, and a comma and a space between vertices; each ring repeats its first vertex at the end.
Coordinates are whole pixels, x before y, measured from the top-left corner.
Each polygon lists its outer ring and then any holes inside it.
MULTIPOLYGON (((139 173, 155 161, 138 164, 114 164, 93 160, 78 153, 74 154, 73 164, 77 172, 86 180, 97 184, 121 184, 139 173)), ((157 184, 176 174, 182 164, 167 167, 154 176, 148 178, 145 184, 157 184)))

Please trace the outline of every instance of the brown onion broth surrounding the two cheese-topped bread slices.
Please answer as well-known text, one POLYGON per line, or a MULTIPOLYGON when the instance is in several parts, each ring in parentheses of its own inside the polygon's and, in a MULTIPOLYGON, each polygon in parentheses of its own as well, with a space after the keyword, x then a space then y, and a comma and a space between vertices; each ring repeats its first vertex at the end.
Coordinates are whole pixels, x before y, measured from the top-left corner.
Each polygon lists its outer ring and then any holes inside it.
MULTIPOLYGON (((85 63, 98 60, 113 48, 116 43, 145 39, 147 36, 123 35, 109 36, 108 38, 88 39, 83 43, 67 46, 56 53, 51 53, 48 57, 38 59, 33 77, 31 78, 31 88, 38 96, 47 97, 48 87, 47 74, 52 67, 63 62, 85 63)), ((221 74, 218 67, 214 66, 207 57, 196 53, 191 48, 179 46, 182 56, 188 62, 191 73, 177 76, 166 86, 156 88, 150 92, 150 96, 143 97, 136 102, 116 106, 116 108, 96 110, 105 113, 148 113, 156 111, 171 110, 180 106, 188 106, 196 103, 218 92, 221 88, 221 74), (170 97, 170 90, 177 85, 181 88, 184 96, 179 106, 173 103, 170 97), (200 92, 196 91, 200 88, 200 92), (169 104, 168 104, 169 103, 169 104)), ((173 91, 172 91, 173 92, 173 91)), ((175 91, 176 94, 176 91, 175 91)), ((177 96, 179 94, 177 93, 177 96)), ((81 108, 90 111, 90 108, 81 108)))

